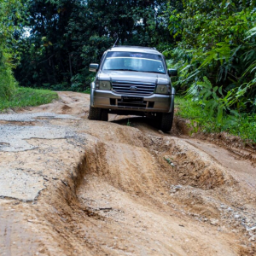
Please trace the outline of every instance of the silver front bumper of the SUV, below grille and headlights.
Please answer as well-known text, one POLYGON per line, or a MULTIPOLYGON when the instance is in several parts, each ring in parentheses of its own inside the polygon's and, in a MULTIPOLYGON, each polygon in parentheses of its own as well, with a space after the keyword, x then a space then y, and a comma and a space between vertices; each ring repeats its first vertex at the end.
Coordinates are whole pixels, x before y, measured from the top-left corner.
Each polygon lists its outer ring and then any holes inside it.
MULTIPOLYGON (((171 95, 153 94, 143 97, 143 102, 121 102, 122 96, 131 96, 128 94, 120 95, 112 90, 90 91, 90 105, 94 108, 108 108, 114 110, 139 111, 152 113, 170 113, 173 110, 175 90, 172 88, 171 95)), ((135 95, 132 95, 135 96, 135 95)))

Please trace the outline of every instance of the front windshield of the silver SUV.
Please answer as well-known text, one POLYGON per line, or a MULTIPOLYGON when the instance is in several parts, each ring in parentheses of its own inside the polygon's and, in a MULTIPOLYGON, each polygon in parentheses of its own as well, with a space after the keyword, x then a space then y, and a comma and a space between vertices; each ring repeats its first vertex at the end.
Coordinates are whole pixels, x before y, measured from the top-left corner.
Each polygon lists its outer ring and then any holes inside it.
POLYGON ((108 52, 102 70, 166 73, 160 55, 121 51, 108 52))

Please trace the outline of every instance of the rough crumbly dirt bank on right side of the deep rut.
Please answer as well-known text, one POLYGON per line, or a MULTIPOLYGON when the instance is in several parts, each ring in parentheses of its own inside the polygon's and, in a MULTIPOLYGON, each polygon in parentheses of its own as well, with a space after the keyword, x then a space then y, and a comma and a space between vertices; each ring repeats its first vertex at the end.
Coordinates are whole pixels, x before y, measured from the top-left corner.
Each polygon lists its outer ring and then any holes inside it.
POLYGON ((209 155, 195 150, 189 143, 174 137, 150 137, 149 140, 152 141, 149 148, 157 156, 160 166, 169 169, 177 183, 201 189, 236 183, 223 166, 218 165, 209 155))

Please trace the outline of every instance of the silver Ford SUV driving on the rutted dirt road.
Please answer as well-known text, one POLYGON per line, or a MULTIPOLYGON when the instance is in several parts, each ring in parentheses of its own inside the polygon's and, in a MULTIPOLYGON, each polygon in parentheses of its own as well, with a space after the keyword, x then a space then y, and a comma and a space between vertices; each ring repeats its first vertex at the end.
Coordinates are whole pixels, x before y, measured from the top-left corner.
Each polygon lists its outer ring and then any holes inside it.
POLYGON ((97 72, 90 85, 89 119, 108 121, 108 113, 150 115, 160 130, 172 129, 175 90, 170 77, 177 70, 167 70, 158 50, 114 46, 89 69, 97 72))

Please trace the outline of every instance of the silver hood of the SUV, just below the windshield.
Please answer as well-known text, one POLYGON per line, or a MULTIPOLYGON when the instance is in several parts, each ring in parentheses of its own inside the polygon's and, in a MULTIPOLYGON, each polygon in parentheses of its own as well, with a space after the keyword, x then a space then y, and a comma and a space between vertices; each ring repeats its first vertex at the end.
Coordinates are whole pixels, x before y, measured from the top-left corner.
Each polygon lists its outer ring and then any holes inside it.
POLYGON ((97 79, 104 81, 143 82, 154 84, 171 84, 169 76, 165 73, 145 73, 133 71, 104 70, 97 74, 97 79))

